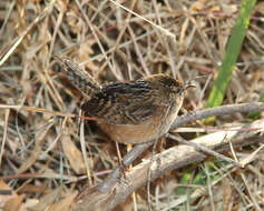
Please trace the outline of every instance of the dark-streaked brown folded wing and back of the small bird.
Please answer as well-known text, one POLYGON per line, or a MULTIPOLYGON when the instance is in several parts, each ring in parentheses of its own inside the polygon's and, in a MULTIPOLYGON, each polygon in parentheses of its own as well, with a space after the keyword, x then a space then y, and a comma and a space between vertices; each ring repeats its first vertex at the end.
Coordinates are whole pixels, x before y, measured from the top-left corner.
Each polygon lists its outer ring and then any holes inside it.
POLYGON ((108 83, 81 105, 85 114, 114 124, 140 124, 157 115, 162 104, 155 103, 156 90, 148 81, 108 83))

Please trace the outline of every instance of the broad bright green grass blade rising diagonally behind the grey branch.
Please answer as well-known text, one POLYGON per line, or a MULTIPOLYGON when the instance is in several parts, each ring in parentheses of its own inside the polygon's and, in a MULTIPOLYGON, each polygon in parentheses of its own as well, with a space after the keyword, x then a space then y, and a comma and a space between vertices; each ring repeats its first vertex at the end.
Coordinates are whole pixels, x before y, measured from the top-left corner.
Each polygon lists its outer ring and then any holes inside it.
MULTIPOLYGON (((239 17, 234 26, 231 38, 227 42, 226 53, 219 69, 219 73, 209 94, 206 108, 218 107, 222 104, 226 88, 232 77, 232 71, 239 54, 243 40, 250 24, 251 13, 256 0, 243 0, 239 17)), ((212 120, 207 119, 207 121, 212 120)))

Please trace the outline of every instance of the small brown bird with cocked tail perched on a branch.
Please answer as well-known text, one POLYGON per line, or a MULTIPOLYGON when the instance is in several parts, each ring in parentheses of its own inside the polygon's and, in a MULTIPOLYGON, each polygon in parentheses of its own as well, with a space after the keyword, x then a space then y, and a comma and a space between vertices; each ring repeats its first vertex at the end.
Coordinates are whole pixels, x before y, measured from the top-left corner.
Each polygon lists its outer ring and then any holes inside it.
POLYGON ((128 82, 98 83, 67 58, 56 59, 81 91, 85 115, 119 143, 144 143, 165 134, 183 105, 188 88, 166 74, 128 82))

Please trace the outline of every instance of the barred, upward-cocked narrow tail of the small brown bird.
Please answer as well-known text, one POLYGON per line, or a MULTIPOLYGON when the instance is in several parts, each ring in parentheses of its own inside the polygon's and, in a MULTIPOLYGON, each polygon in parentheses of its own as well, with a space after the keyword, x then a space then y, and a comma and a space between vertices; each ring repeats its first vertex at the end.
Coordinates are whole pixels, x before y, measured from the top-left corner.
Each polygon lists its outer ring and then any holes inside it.
POLYGON ((57 56, 53 57, 67 73, 67 78, 78 88, 86 99, 101 90, 101 86, 88 73, 80 69, 80 67, 70 59, 57 56))

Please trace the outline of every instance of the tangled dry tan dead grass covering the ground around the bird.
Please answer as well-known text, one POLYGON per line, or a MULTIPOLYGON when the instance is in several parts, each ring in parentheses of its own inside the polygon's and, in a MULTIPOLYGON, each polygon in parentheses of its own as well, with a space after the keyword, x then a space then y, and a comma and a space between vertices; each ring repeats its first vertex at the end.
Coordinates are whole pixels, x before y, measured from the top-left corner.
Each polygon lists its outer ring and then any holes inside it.
MULTIPOLYGON (((184 105, 188 111, 204 108, 241 1, 155 2, 121 1, 137 17, 108 0, 0 2, 0 103, 9 104, 0 108, 0 208, 67 209, 87 183, 88 168, 95 184, 117 164, 114 142, 97 127, 84 127, 80 118, 74 118, 79 114, 81 99, 56 71, 53 54, 72 58, 102 82, 159 72, 183 81, 207 76, 195 82, 197 89, 188 93, 184 105), (80 140, 87 149, 86 161, 80 140), (12 194, 1 194, 1 190, 12 194)), ((260 99, 264 88, 263 11, 260 2, 224 104, 260 99)), ((236 114, 215 123, 224 128, 245 121, 250 121, 246 114, 236 114)), ((206 127, 202 122, 195 125, 206 127)), ((182 135, 192 139, 196 134, 182 135)), ((167 140, 158 150, 174 144, 167 140)), ((257 147, 237 153, 250 154, 257 147)), ((156 208, 167 210, 169 201, 169 205, 192 210, 263 209, 262 161, 260 153, 244 170, 199 163, 192 167, 188 184, 178 182, 189 168, 170 172, 151 184, 156 208), (202 182, 196 182, 193 179, 199 168, 204 169, 198 174, 202 182), (178 185, 188 187, 184 195, 177 195, 178 185)), ((144 188, 137 192, 136 203, 140 210, 147 208, 144 188)), ((130 210, 131 199, 119 208, 130 210)))

